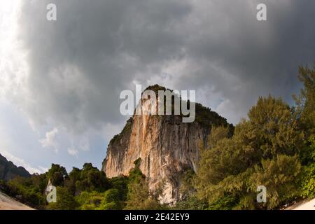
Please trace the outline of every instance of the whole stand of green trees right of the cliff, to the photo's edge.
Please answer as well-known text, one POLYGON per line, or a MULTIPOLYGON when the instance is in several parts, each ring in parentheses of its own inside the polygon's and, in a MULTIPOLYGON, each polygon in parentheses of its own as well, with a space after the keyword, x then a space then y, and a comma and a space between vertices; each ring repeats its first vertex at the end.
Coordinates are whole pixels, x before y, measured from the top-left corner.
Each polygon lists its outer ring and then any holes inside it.
MULTIPOLYGON (((315 69, 315 67, 314 67, 315 69)), ((248 119, 213 127, 200 167, 181 208, 276 209, 315 194, 315 71, 300 68, 304 84, 296 106, 260 97, 248 119), (267 203, 256 202, 258 186, 266 186, 267 203)))

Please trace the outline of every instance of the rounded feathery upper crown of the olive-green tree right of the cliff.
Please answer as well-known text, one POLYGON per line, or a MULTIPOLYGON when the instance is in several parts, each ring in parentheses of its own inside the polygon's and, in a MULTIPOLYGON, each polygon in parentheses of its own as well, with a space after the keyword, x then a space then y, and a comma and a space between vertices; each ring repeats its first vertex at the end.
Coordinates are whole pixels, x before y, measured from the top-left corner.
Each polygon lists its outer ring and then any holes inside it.
POLYGON ((264 159, 275 158, 279 153, 295 155, 304 136, 294 112, 282 99, 260 97, 248 112, 248 122, 238 127, 242 144, 262 153, 264 159))

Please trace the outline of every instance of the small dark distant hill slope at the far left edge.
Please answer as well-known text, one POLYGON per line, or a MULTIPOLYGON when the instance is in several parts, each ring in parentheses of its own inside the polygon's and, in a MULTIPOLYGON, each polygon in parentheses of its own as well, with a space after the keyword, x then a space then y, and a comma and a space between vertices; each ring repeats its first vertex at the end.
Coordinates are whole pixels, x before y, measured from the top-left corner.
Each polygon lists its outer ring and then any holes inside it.
POLYGON ((29 174, 24 167, 15 166, 13 162, 6 160, 6 158, 0 154, 0 180, 10 181, 10 179, 14 179, 15 176, 30 177, 31 174, 29 174))

